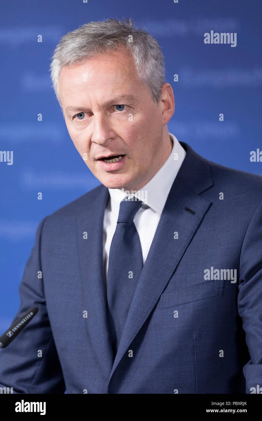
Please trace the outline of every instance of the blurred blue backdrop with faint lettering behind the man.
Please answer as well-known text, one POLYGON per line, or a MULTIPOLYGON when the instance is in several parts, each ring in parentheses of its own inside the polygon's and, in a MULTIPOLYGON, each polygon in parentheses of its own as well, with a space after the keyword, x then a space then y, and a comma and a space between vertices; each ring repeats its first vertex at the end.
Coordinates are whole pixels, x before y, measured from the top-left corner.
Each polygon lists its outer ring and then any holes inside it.
POLYGON ((262 162, 250 161, 251 151, 262 150, 261 11, 260 0, 2 2, 0 150, 13 151, 13 164, 0 162, 0 334, 18 310, 40 220, 100 184, 51 88, 48 69, 61 37, 89 21, 132 17, 164 54, 176 103, 169 131, 209 160, 262 175, 262 162), (211 31, 237 33, 236 47, 205 44, 211 31))

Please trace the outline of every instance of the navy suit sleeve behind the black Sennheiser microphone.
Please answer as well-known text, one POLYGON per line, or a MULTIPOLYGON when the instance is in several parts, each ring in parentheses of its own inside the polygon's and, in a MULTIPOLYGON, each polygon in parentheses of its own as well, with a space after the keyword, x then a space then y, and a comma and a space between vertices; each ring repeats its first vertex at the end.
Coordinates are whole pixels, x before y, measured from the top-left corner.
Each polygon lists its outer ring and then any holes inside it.
POLYGON ((6 348, 0 349, 0 387, 13 393, 64 393, 65 384, 45 304, 41 268, 40 222, 35 244, 19 285, 21 304, 13 322, 33 306, 38 313, 6 348))

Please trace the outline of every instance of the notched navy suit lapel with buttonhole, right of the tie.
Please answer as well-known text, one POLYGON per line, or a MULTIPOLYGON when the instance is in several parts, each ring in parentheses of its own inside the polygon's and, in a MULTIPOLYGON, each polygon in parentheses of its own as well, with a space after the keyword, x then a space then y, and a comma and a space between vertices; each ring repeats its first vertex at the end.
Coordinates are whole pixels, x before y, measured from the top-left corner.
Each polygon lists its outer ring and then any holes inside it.
POLYGON ((214 184, 209 175, 208 162, 187 144, 180 143, 186 150, 185 159, 170 189, 148 252, 109 382, 128 346, 156 305, 211 205, 208 200, 199 195, 214 184), (192 214, 185 208, 193 210, 195 213, 192 214), (174 240, 174 232, 178 232, 178 240, 174 240))

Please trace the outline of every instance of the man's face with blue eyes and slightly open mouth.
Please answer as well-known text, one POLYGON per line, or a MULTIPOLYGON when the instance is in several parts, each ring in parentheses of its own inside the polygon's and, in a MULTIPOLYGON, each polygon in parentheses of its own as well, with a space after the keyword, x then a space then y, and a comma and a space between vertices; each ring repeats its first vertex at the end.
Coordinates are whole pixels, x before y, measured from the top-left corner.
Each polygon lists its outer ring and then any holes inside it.
POLYGON ((124 47, 64 67, 59 93, 69 135, 102 184, 138 190, 153 178, 164 163, 163 107, 124 47))

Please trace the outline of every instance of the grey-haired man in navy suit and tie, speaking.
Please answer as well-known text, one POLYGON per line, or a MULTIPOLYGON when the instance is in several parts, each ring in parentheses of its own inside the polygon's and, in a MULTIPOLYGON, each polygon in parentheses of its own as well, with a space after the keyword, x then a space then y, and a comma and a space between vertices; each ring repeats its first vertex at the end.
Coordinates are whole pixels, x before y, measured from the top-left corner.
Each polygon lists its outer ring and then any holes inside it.
POLYGON ((1 386, 262 386, 262 177, 208 162, 168 132, 161 50, 131 22, 66 34, 51 71, 71 139, 102 184, 41 221, 14 320, 39 312, 1 350, 1 386))

